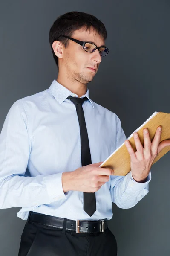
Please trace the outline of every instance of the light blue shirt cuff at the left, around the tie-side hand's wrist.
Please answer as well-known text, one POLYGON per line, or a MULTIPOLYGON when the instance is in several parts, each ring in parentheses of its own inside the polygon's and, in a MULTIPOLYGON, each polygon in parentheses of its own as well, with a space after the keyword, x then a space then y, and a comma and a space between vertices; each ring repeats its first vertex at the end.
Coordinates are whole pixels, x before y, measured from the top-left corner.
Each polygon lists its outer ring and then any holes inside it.
POLYGON ((62 172, 46 176, 45 181, 46 189, 52 202, 67 198, 66 195, 68 193, 64 194, 63 192, 62 172))

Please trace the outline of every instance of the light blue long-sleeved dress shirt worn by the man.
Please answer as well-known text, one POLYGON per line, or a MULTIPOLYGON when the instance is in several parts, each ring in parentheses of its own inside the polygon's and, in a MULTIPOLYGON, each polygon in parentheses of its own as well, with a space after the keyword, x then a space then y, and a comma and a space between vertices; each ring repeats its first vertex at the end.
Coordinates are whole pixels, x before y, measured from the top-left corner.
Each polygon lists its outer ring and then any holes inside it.
MULTIPOLYGON (((22 207, 29 211, 72 220, 112 218, 112 202, 127 209, 149 192, 151 173, 145 183, 111 175, 96 194, 96 212, 83 210, 83 192, 63 192, 62 172, 81 167, 78 116, 69 95, 78 97, 56 80, 49 89, 13 103, 0 134, 0 209, 22 207)), ((104 161, 126 140, 118 116, 89 100, 83 103, 92 163, 104 161)))

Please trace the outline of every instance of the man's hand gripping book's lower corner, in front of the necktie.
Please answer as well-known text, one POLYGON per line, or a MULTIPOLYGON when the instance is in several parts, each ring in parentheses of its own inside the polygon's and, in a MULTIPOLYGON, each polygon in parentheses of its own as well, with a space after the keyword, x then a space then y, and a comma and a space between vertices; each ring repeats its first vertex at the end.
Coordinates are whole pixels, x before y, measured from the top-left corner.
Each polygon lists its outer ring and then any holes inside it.
POLYGON ((109 175, 114 175, 114 170, 98 167, 103 162, 92 163, 80 167, 72 172, 62 173, 63 191, 96 192, 102 185, 109 181, 109 175))

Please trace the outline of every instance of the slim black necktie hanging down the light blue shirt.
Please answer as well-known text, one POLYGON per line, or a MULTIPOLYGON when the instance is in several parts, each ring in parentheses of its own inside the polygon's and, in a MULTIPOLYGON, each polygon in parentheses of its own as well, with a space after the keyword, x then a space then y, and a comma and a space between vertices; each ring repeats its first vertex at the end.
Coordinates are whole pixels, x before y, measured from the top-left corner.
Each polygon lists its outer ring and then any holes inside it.
MULTIPOLYGON (((84 118, 84 111, 82 104, 85 100, 88 100, 87 97, 78 98, 69 96, 67 99, 71 100, 76 107, 78 122, 80 126, 80 138, 81 138, 81 166, 86 166, 92 163, 90 147, 89 147, 89 138, 87 134, 86 122, 84 118)), ((96 199, 95 192, 83 192, 83 209, 91 217, 96 211, 96 199)))

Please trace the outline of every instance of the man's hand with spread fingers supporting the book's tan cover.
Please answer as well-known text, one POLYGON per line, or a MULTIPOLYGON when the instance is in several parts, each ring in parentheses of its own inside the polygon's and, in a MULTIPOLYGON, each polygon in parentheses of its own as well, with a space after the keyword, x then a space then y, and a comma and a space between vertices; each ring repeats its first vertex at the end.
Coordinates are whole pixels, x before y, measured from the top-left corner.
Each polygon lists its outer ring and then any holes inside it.
POLYGON ((149 175, 151 166, 160 151, 170 146, 170 140, 164 140, 160 143, 161 139, 161 126, 156 129, 155 136, 151 143, 149 131, 147 128, 143 129, 144 133, 144 148, 138 137, 138 133, 133 134, 136 146, 136 152, 134 152, 129 140, 125 140, 127 151, 130 154, 130 167, 133 179, 137 182, 145 182, 149 175))

